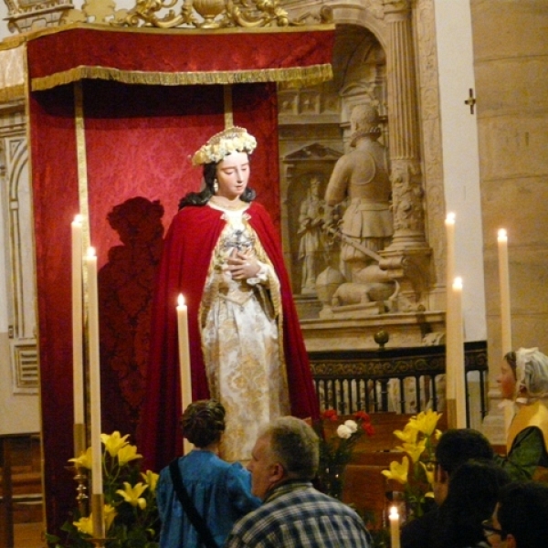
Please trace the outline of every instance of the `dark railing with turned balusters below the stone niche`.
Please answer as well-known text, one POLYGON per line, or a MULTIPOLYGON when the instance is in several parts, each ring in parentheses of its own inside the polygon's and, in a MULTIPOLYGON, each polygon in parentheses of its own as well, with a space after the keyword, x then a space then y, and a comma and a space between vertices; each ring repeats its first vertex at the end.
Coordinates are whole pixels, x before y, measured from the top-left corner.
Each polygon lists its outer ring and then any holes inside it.
MULTIPOLYGON (((487 343, 465 342, 467 422, 487 414, 487 343), (470 395, 474 395, 470 397, 470 395)), ((446 347, 311 352, 321 409, 416 413, 445 404, 446 347)))

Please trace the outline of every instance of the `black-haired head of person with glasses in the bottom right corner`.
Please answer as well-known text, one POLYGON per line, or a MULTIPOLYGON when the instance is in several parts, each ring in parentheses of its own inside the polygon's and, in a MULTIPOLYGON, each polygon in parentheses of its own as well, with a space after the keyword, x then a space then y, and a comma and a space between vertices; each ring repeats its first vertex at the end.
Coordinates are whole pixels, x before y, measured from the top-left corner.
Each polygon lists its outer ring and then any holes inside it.
POLYGON ((501 490, 497 518, 517 548, 548 545, 548 486, 539 482, 512 482, 501 490))

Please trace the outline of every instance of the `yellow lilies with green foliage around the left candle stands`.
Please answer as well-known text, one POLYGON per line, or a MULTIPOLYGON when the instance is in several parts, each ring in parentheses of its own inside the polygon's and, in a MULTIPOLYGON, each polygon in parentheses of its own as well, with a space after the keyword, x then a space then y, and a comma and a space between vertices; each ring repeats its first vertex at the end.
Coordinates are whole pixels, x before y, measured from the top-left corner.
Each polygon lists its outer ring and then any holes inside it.
MULTIPOLYGON (((129 435, 120 432, 101 434, 104 521, 107 548, 157 548, 160 521, 156 506, 158 474, 151 470, 142 473, 137 447, 127 441, 129 435)), ((91 448, 79 457, 70 458, 77 469, 91 471, 91 448)), ((89 472, 90 477, 90 472, 89 472)), ((90 548, 93 536, 92 515, 80 515, 61 527, 67 532, 66 543, 55 535, 47 534, 47 543, 56 548, 90 548)))

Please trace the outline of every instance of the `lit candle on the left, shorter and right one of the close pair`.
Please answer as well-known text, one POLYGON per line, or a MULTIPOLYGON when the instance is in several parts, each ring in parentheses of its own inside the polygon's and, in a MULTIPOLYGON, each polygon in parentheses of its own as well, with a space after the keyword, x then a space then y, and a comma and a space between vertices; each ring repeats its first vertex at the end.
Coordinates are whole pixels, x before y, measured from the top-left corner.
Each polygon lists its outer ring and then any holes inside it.
POLYGON ((102 448, 100 442, 100 354, 99 298, 97 290, 97 257, 90 248, 88 267, 88 330, 90 344, 90 420, 91 420, 91 492, 102 493, 102 448))

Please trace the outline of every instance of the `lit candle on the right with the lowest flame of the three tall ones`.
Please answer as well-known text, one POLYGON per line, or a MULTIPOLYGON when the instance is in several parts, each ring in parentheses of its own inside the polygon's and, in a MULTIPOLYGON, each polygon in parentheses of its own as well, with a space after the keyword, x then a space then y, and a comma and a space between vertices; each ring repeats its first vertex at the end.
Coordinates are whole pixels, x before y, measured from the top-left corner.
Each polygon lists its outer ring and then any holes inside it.
POLYGON ((457 428, 466 428, 466 388, 465 388, 465 362, 464 362, 464 329, 462 323, 462 279, 455 278, 452 286, 453 307, 455 310, 456 329, 452 341, 453 371, 455 372, 455 403, 457 428))

